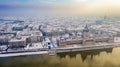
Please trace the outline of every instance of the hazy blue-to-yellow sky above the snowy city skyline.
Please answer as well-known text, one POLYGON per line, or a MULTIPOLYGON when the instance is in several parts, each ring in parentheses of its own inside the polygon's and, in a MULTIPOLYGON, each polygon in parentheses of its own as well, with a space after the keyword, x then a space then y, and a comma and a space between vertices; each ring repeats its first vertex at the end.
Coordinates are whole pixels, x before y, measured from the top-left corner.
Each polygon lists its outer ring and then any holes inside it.
POLYGON ((0 14, 119 15, 120 0, 0 0, 0 14))

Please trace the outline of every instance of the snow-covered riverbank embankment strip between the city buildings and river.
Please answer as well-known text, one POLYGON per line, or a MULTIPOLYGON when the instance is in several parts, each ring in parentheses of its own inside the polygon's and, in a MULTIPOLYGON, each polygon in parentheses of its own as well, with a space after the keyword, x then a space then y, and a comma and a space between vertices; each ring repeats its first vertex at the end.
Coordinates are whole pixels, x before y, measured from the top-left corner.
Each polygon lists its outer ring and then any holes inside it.
POLYGON ((37 55, 37 54, 49 54, 55 55, 62 52, 74 52, 74 51, 85 51, 85 50, 96 50, 96 49, 106 49, 120 47, 120 45, 89 45, 89 46, 75 46, 75 47, 65 47, 65 48, 53 48, 46 51, 34 51, 34 52, 19 52, 19 53, 5 53, 0 54, 0 57, 12 57, 12 56, 24 56, 24 55, 37 55))

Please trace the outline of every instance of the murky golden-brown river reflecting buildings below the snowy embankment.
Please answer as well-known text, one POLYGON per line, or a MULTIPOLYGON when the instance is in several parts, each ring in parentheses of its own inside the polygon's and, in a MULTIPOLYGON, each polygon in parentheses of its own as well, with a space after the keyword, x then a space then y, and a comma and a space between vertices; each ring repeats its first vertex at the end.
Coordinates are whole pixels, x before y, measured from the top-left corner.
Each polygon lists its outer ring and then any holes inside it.
POLYGON ((6 57, 0 67, 120 67, 120 48, 6 57))

